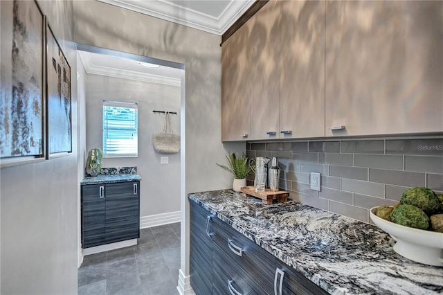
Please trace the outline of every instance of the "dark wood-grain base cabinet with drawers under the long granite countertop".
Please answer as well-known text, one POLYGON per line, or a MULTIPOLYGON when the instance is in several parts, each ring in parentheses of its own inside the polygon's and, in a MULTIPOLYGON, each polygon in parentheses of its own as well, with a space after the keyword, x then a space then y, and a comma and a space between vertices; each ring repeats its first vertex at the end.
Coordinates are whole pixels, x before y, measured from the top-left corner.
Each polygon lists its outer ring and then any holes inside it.
POLYGON ((190 224, 190 282, 197 295, 327 294, 192 201, 190 224))

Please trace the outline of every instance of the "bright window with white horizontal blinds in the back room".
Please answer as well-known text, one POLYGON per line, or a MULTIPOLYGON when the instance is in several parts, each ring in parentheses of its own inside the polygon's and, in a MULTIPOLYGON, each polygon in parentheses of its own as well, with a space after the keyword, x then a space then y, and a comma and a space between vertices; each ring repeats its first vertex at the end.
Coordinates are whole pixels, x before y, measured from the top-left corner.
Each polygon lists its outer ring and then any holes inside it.
POLYGON ((137 157, 137 104, 103 100, 103 156, 137 157))

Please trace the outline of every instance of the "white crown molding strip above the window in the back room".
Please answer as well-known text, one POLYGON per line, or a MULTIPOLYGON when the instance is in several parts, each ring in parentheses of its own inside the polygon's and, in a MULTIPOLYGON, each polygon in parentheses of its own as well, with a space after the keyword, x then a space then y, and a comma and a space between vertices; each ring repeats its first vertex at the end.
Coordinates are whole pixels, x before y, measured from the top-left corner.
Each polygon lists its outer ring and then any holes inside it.
POLYGON ((98 66, 91 62, 89 54, 80 53, 80 59, 82 60, 84 70, 89 74, 105 75, 114 78, 123 78, 129 80, 165 84, 170 86, 181 86, 181 80, 179 78, 165 77, 163 75, 154 75, 150 73, 140 73, 136 71, 129 71, 123 69, 115 69, 108 66, 98 66))

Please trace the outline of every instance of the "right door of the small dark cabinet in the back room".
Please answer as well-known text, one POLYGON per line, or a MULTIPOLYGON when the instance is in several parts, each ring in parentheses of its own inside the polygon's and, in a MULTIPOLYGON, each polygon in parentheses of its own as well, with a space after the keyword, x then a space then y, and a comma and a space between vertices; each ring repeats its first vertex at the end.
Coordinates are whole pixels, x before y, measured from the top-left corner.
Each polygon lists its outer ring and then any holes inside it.
POLYGON ((140 237, 140 181, 106 185, 106 241, 140 237))

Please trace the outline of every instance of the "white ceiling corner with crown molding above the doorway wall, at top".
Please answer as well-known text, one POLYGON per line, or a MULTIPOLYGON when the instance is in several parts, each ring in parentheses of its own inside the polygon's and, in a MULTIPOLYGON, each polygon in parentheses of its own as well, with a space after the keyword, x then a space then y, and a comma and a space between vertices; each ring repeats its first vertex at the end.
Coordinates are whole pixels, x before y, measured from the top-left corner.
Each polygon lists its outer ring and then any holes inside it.
POLYGON ((223 35, 255 0, 98 0, 120 8, 223 35))

